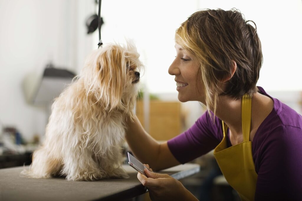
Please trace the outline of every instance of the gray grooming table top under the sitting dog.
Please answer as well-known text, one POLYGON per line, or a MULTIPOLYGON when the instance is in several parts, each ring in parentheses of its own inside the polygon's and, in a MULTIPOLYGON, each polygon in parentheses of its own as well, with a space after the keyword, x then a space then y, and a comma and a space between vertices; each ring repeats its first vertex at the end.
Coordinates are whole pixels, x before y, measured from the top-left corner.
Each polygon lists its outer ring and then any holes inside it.
MULTIPOLYGON (((123 200, 145 193, 137 179, 137 171, 129 165, 123 167, 130 178, 98 181, 66 181, 64 177, 34 179, 20 177, 24 167, 0 169, 0 200, 123 200)), ((161 173, 182 179, 199 170, 197 164, 185 164, 161 173)))

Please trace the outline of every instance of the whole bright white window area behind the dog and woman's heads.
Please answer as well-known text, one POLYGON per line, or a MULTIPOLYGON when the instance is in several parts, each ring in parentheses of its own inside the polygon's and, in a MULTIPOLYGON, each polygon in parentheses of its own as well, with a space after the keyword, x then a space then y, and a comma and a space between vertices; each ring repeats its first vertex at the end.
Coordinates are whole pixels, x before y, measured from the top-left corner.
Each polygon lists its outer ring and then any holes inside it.
MULTIPOLYGON (((102 1, 102 40, 124 44, 125 38, 133 39, 146 67, 143 86, 150 93, 176 93, 174 76, 168 74, 176 54, 175 30, 199 9, 233 7, 257 25, 264 58, 257 85, 267 91, 302 90, 300 0, 102 1)), ((94 37, 95 47, 97 31, 94 37)))

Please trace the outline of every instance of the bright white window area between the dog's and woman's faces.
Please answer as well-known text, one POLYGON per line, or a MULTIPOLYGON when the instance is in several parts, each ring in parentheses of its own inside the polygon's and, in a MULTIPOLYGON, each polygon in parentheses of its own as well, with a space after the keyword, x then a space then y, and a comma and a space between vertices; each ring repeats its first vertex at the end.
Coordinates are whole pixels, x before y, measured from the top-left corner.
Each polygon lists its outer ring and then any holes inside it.
MULTIPOLYGON (((151 93, 175 93, 174 77, 168 74, 176 55, 175 30, 197 10, 198 0, 102 1, 101 6, 102 41, 133 39, 146 66, 143 86, 151 93)), ((98 41, 97 32, 94 41, 98 41)))

